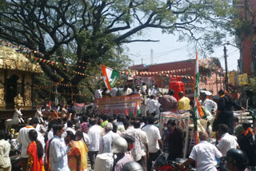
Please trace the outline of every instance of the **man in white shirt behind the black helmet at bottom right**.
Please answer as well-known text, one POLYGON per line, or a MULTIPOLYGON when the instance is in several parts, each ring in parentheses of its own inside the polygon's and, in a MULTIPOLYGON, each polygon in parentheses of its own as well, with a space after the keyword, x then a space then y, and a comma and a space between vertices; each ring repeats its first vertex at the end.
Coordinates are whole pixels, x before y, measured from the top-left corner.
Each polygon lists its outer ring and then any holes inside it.
POLYGON ((218 141, 218 149, 222 152, 222 156, 225 157, 226 153, 230 149, 237 149, 238 142, 236 141, 233 135, 228 133, 229 127, 226 124, 218 125, 218 135, 221 137, 221 140, 218 141))

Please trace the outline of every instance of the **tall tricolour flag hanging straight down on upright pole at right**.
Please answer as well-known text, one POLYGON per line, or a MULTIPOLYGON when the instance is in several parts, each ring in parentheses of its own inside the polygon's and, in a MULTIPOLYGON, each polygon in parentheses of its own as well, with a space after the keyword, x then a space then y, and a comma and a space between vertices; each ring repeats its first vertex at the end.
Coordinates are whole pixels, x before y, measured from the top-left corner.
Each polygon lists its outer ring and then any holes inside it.
POLYGON ((202 106, 200 105, 198 101, 198 97, 200 96, 200 89, 199 89, 199 82, 200 82, 200 77, 199 77, 199 67, 198 67, 198 51, 196 54, 196 60, 195 60, 195 70, 194 70, 194 110, 195 112, 202 117, 204 115, 202 111, 202 106))

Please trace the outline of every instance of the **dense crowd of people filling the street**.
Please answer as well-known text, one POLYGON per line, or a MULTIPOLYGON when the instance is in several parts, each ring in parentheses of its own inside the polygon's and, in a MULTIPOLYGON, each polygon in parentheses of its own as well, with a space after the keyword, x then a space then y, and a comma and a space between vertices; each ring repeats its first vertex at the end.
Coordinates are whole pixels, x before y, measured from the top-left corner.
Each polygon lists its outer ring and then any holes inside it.
MULTIPOLYGON (((178 168, 194 165, 197 170, 217 170, 216 159, 221 158, 219 163, 222 169, 255 170, 256 143, 252 125, 247 121, 240 125, 232 107, 243 108, 224 90, 218 93, 217 103, 210 100, 206 93, 200 96, 205 113, 202 119, 213 125, 214 136, 206 129, 200 130, 198 145, 188 148, 187 160, 180 163, 178 168), (209 137, 214 138, 215 143, 208 142, 209 137)), ((159 97, 153 94, 146 96, 149 97, 146 100, 146 114, 136 117, 70 113, 64 119, 45 118, 46 132, 38 129, 38 119, 32 118, 29 125, 19 130, 17 137, 21 146, 22 170, 126 171, 133 170, 133 167, 138 169, 139 165, 140 170, 146 171, 154 168, 154 161, 162 153, 170 161, 182 158, 186 137, 184 131, 176 121, 169 120, 160 132, 155 125, 155 115, 158 110, 193 109, 193 101, 185 97, 183 92, 178 93, 180 99, 177 101, 171 89, 159 97)), ((5 141, 5 136, 6 133, 0 130, 0 171, 11 170, 10 144, 5 141)))

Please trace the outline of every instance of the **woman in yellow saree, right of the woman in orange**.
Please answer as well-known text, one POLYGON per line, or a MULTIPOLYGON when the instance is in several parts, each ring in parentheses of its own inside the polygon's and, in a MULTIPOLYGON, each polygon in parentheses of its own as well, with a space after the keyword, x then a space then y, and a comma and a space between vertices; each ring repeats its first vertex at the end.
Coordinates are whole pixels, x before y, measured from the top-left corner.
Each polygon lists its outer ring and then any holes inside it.
POLYGON ((86 143, 84 141, 82 130, 78 130, 75 133, 75 137, 76 137, 76 140, 78 141, 78 144, 79 144, 80 149, 81 149, 82 170, 85 171, 88 168, 88 166, 87 166, 87 153, 89 152, 89 150, 87 149, 86 143))

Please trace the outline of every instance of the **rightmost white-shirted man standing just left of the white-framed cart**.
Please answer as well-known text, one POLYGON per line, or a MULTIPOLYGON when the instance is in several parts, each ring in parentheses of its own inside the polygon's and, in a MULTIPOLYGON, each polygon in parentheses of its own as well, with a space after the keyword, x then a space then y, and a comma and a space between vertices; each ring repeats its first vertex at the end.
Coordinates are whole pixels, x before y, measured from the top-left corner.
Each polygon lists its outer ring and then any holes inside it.
POLYGON ((148 124, 142 128, 146 132, 149 146, 149 159, 147 161, 147 169, 151 170, 152 161, 155 161, 160 155, 162 149, 162 140, 158 127, 154 126, 154 117, 147 117, 148 124))

